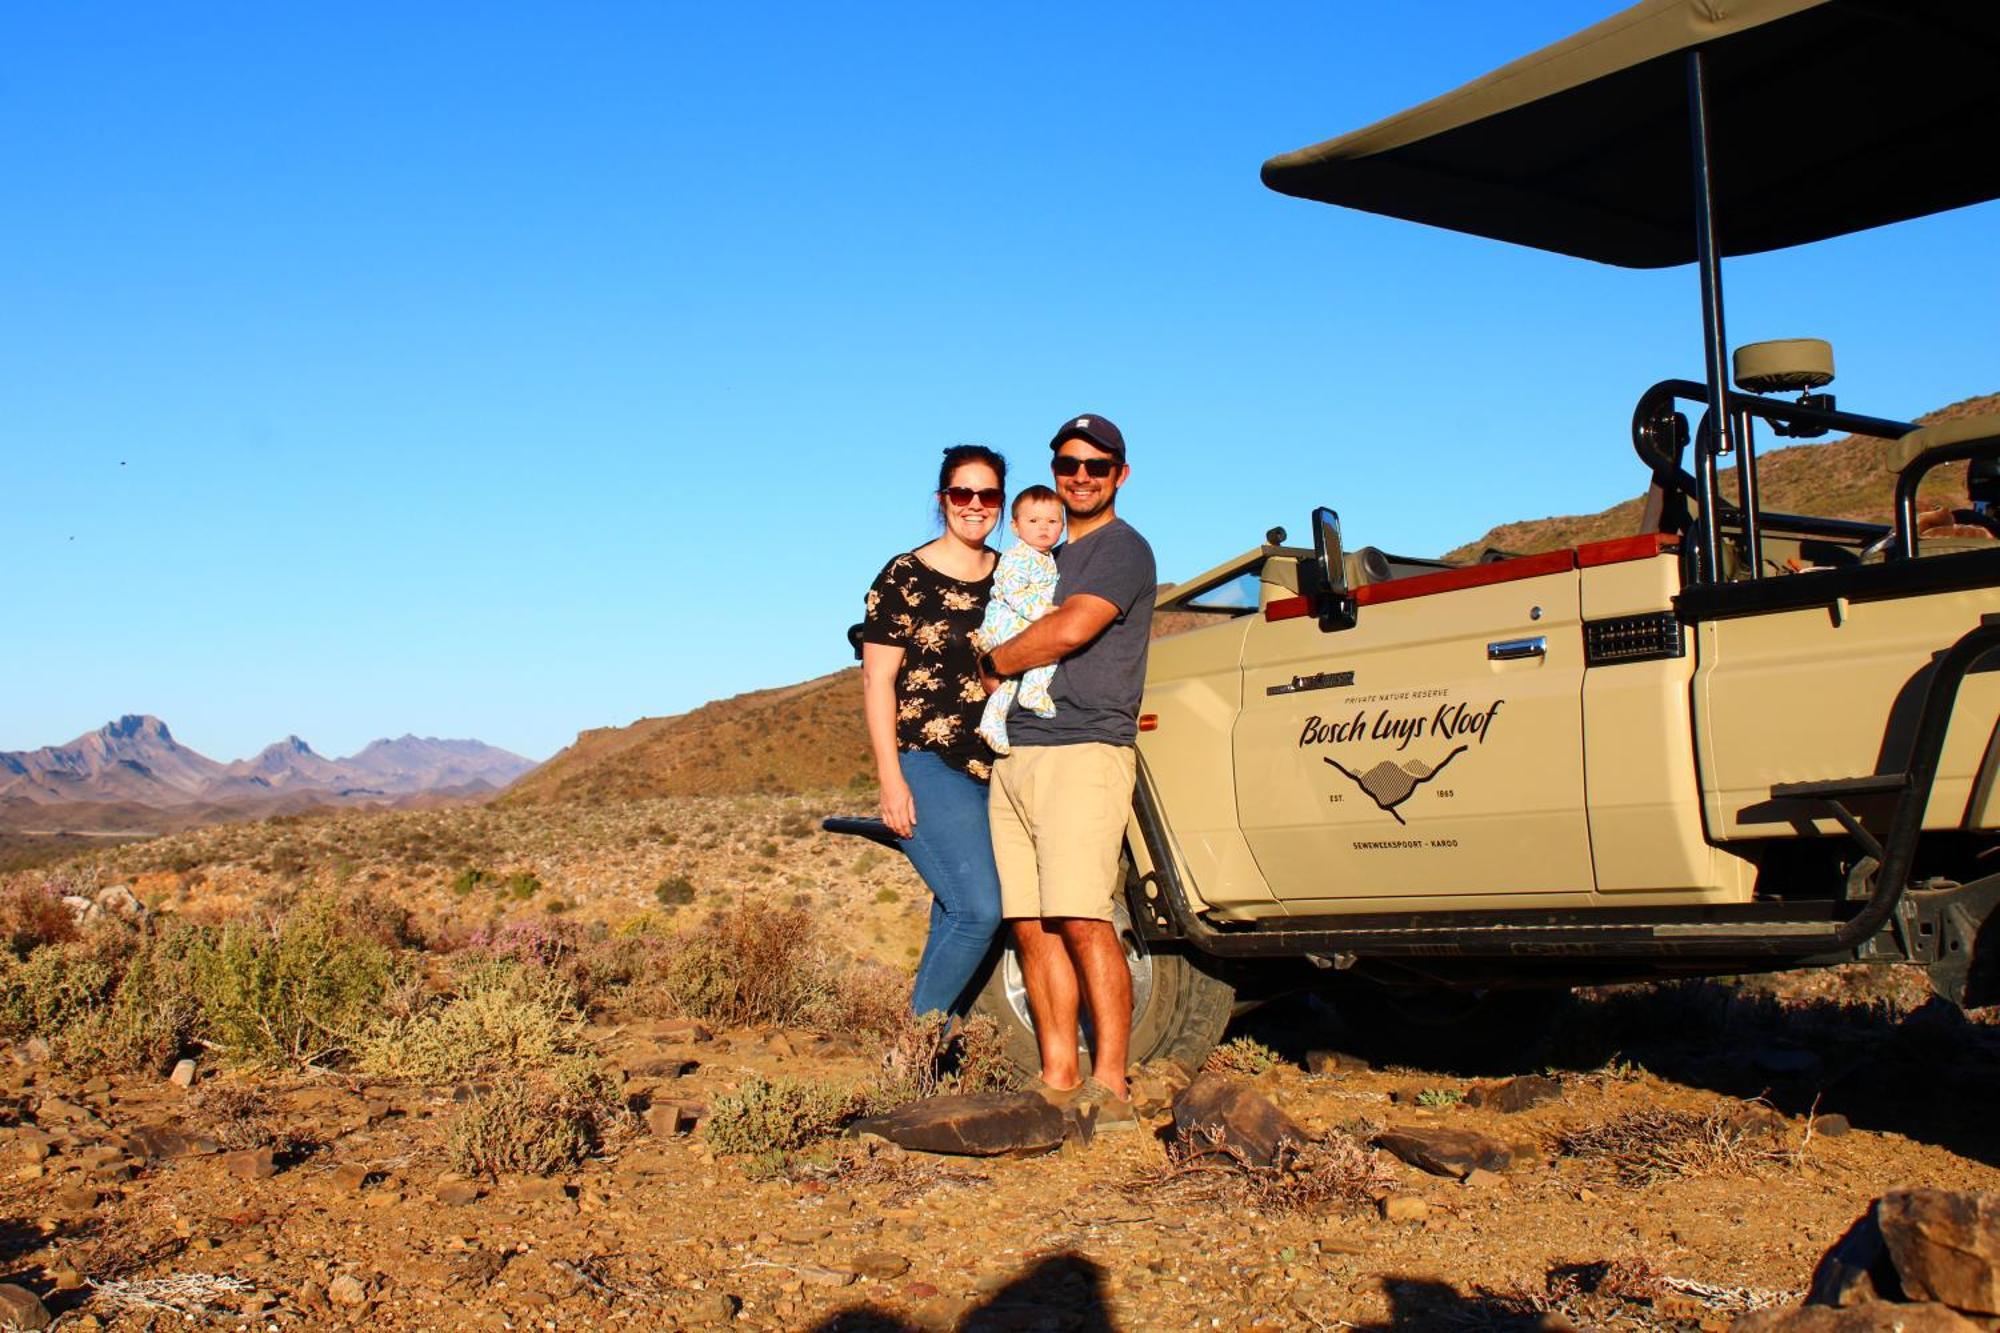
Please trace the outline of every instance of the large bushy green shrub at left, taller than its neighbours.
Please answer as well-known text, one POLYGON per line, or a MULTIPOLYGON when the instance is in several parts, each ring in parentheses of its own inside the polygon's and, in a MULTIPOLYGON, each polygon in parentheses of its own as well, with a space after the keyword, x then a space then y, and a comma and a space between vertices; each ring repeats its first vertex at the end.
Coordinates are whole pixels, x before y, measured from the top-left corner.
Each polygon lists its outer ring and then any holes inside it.
POLYGON ((312 899, 274 925, 230 923, 192 953, 202 1027, 228 1059, 314 1065, 366 1031, 394 959, 344 933, 338 913, 332 899, 312 899))

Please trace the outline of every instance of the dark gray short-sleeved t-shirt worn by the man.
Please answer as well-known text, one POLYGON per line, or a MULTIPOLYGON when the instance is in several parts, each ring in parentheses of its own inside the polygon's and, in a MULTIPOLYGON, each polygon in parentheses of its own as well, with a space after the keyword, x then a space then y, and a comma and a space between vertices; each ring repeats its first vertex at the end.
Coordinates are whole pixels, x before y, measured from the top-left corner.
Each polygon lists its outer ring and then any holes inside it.
POLYGON ((1102 634, 1062 658, 1050 697, 1056 717, 1014 707, 1010 745, 1082 745, 1138 741, 1138 699, 1146 689, 1146 642, 1152 638, 1152 598, 1160 588, 1152 546, 1124 518, 1056 546, 1056 602, 1078 592, 1118 608, 1102 634))

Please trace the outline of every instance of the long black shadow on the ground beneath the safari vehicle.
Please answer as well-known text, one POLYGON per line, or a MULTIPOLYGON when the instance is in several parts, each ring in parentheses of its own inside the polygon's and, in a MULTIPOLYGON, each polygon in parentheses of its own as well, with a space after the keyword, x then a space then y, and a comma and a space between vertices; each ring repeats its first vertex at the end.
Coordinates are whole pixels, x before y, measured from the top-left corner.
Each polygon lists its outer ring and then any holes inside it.
MULTIPOLYGON (((1288 1059, 1312 1047, 1378 1067, 1464 1077, 1602 1071, 1622 1063, 1688 1087, 1762 1097, 1788 1115, 1840 1113, 2000 1165, 2000 1027, 1868 981, 1678 981, 1576 995, 1496 995, 1490 1005, 1398 1013, 1380 997, 1306 995, 1232 1025, 1288 1059)), ((1458 1001, 1454 1001, 1458 1003, 1458 1001)))

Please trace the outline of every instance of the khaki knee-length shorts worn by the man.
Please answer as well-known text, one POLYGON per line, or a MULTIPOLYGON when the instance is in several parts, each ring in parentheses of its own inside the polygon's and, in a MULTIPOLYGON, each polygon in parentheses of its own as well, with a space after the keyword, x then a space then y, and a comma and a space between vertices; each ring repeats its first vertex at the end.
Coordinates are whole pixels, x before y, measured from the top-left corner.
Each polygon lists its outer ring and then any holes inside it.
POLYGON ((1132 815, 1130 745, 1016 745, 994 763, 986 811, 1000 915, 1112 919, 1132 815))

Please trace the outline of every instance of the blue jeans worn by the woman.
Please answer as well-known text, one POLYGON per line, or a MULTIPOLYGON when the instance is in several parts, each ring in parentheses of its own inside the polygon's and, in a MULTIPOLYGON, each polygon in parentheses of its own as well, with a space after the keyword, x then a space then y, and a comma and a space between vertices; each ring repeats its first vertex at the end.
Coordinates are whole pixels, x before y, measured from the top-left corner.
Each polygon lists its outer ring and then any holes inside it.
POLYGON ((1000 873, 986 825, 986 785, 930 751, 904 751, 902 781, 916 801, 916 833, 902 839, 930 889, 930 937, 916 965, 912 1013, 962 1015, 966 991, 1000 933, 1000 873))

